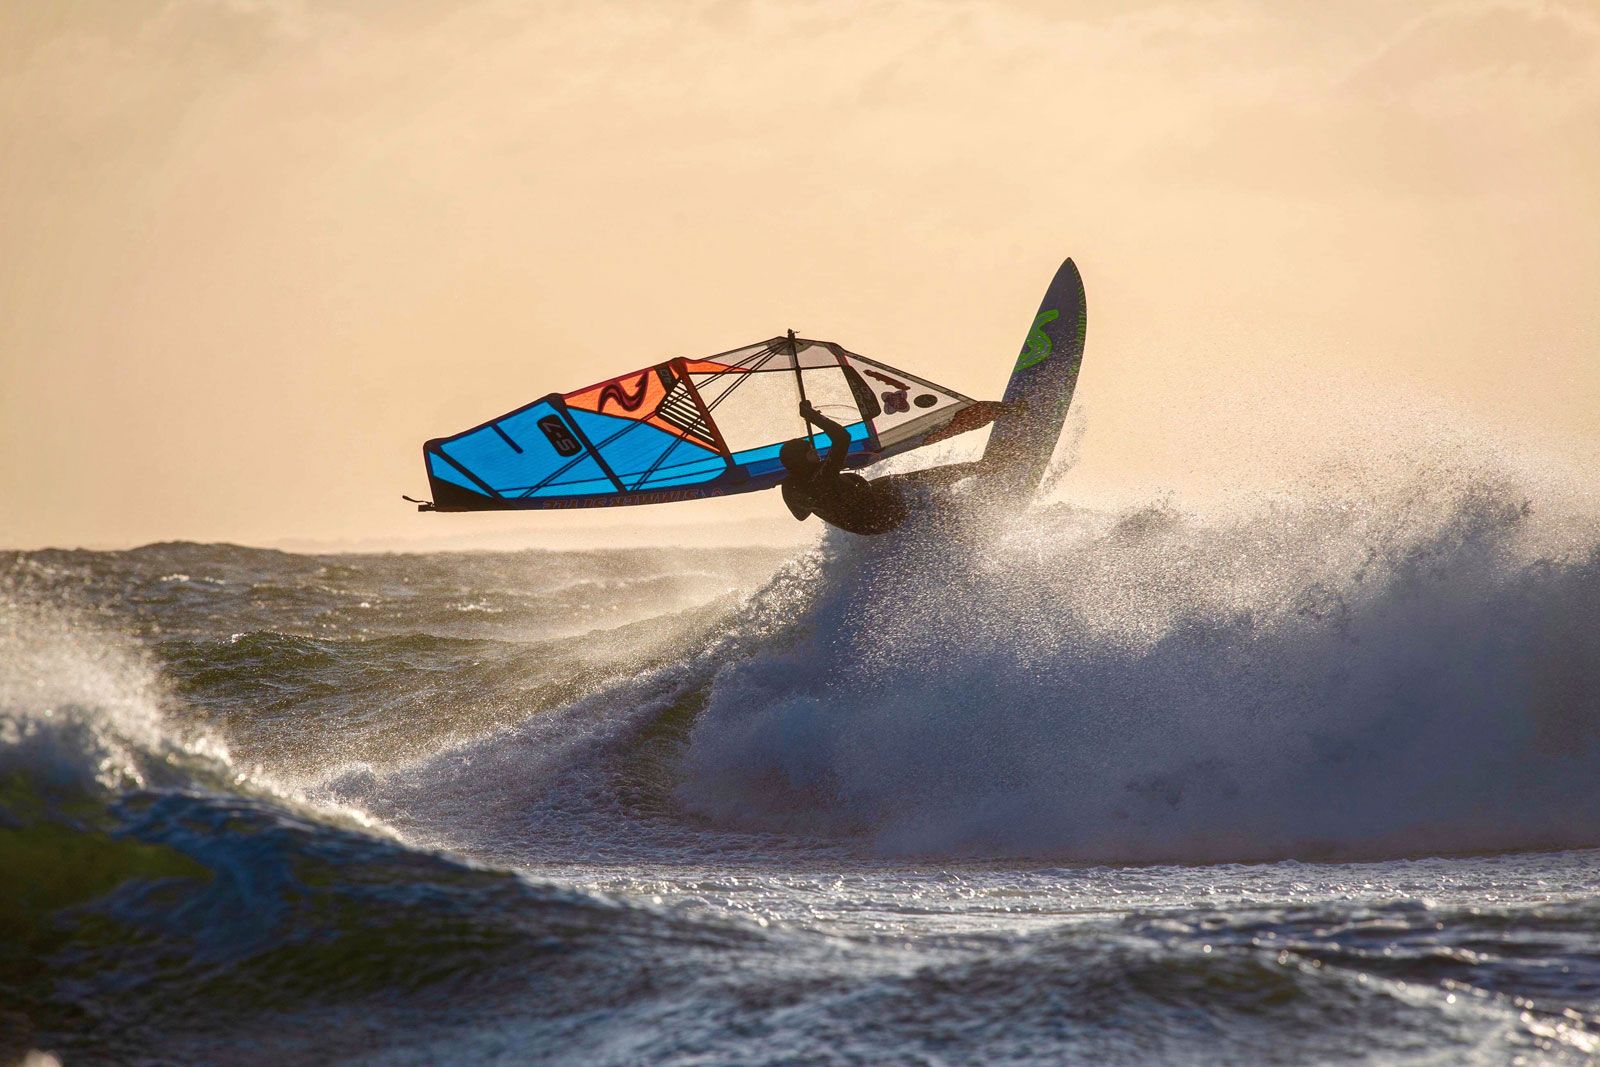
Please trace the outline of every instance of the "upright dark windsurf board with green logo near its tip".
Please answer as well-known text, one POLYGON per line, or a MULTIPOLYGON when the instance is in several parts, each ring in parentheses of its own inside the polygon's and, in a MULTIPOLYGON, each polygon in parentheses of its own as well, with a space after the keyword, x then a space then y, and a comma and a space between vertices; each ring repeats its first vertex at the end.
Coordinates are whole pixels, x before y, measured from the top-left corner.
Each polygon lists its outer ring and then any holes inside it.
POLYGON ((1086 326, 1083 278, 1067 259, 1045 290, 1005 387, 1008 408, 989 432, 978 472, 986 496, 1026 502, 1038 491, 1072 406, 1086 326))

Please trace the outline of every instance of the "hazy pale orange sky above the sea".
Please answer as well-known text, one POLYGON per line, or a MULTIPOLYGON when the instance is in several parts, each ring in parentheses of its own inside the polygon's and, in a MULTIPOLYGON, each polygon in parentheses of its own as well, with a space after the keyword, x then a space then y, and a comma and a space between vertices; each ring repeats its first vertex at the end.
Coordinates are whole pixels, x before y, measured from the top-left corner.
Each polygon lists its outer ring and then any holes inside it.
POLYGON ((790 326, 998 397, 1064 256, 1069 498, 1411 410, 1592 445, 1600 6, 0 5, 0 547, 803 536, 400 494, 429 437, 790 326))

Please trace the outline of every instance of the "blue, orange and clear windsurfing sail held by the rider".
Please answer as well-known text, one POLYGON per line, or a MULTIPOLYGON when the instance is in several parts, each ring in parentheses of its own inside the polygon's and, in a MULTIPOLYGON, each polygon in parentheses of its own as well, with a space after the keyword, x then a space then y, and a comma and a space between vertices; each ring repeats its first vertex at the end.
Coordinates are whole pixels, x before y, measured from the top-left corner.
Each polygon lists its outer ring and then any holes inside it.
MULTIPOLYGON (((434 507, 445 512, 750 493, 782 482, 778 450, 808 430, 802 398, 850 434, 851 467, 987 421, 971 418, 987 405, 952 389, 790 334, 550 394, 430 440, 422 458, 434 507)), ((813 442, 827 448, 822 434, 813 442)))

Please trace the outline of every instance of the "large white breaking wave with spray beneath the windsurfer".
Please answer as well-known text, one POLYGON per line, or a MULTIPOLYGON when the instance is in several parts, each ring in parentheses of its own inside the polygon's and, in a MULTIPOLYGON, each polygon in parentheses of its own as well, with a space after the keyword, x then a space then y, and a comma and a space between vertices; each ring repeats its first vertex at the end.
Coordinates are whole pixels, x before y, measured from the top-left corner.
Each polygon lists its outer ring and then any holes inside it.
POLYGON ((750 605, 680 801, 886 854, 1600 841, 1600 547, 1493 467, 830 539, 750 605))

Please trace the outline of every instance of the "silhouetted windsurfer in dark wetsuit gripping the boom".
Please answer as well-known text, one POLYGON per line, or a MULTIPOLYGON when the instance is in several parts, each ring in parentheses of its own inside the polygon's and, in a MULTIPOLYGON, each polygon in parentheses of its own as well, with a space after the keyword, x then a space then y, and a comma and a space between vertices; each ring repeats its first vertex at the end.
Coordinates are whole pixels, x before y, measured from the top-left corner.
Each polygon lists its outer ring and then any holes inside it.
POLYGON ((816 515, 854 534, 880 534, 906 522, 906 501, 894 485, 867 482, 845 470, 850 434, 838 422, 800 402, 800 418, 827 434, 827 459, 816 454, 810 438, 786 442, 778 450, 789 477, 782 482, 784 504, 795 518, 816 515))

